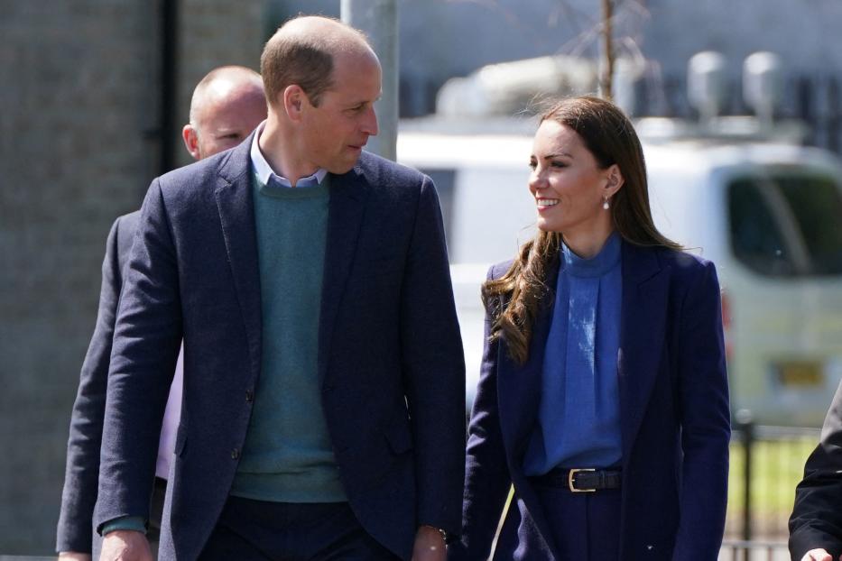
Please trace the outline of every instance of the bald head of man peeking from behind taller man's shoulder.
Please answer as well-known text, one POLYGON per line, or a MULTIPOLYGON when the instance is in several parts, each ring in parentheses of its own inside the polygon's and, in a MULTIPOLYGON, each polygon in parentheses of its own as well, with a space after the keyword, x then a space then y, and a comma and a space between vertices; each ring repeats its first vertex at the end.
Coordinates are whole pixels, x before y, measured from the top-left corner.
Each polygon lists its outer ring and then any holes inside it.
POLYGON ((196 160, 233 148, 266 118, 263 80, 252 69, 224 66, 202 78, 181 132, 196 160))

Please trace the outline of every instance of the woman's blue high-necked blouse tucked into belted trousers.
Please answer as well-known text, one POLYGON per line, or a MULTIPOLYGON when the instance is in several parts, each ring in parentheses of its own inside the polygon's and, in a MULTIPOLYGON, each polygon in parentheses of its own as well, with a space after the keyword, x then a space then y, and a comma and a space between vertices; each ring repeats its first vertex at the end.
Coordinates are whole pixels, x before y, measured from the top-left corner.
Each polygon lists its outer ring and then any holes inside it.
POLYGON ((620 462, 620 248, 616 232, 591 259, 562 244, 541 406, 523 461, 527 475, 620 462))

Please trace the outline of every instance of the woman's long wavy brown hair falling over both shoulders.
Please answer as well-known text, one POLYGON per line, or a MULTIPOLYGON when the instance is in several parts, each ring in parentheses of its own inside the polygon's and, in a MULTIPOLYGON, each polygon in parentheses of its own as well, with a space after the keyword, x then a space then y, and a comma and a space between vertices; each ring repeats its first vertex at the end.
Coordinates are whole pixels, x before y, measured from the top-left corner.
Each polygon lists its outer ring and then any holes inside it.
MULTIPOLYGON (((615 230, 628 243, 681 246, 664 237, 652 222, 643 148, 631 121, 610 101, 598 97, 569 97, 556 102, 541 123, 552 119, 578 133, 600 169, 617 164, 625 179, 611 201, 615 230)), ((523 244, 514 263, 499 279, 483 284, 482 297, 493 318, 491 341, 504 337, 508 353, 516 363, 529 358, 532 326, 542 305, 551 304, 547 277, 558 266, 560 232, 540 231, 523 244)))

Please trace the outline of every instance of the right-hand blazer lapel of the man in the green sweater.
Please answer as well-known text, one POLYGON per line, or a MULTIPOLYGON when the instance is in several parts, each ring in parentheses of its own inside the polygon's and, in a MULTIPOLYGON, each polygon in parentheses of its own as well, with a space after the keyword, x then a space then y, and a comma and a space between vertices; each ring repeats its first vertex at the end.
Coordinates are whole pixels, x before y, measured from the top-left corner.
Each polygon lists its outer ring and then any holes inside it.
POLYGON ((367 197, 368 184, 359 163, 344 175, 330 176, 328 235, 319 317, 319 383, 324 383, 328 372, 331 338, 354 261, 367 197))

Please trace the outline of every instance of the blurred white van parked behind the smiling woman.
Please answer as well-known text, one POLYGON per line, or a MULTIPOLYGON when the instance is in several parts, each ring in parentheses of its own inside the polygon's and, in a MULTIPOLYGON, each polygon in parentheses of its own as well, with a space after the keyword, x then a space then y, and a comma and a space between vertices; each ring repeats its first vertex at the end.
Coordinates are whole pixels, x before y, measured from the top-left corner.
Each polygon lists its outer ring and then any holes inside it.
MULTIPOLYGON (((467 365, 476 392, 479 286, 534 234, 526 188, 534 124, 398 136, 398 161, 440 192, 467 365), (494 133, 494 130, 514 133, 494 133)), ((639 127, 640 130, 646 127, 639 127)), ((643 138, 663 234, 717 264, 732 409, 763 424, 818 427, 842 378, 842 167, 791 143, 643 138)))

